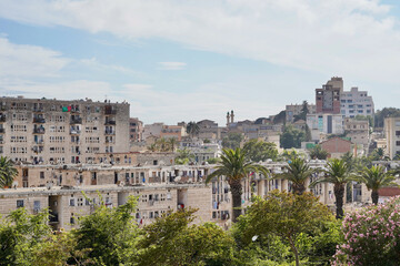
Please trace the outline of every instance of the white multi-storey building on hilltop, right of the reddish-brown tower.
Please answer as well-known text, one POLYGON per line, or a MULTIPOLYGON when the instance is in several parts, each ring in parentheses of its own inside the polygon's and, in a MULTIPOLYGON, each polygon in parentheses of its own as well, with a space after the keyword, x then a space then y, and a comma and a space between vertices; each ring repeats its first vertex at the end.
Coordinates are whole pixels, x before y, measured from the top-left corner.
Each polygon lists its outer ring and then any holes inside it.
POLYGON ((356 117, 357 115, 373 116, 374 106, 372 96, 367 91, 359 91, 357 86, 340 94, 340 112, 343 117, 356 117))

